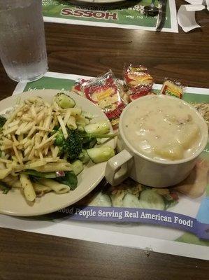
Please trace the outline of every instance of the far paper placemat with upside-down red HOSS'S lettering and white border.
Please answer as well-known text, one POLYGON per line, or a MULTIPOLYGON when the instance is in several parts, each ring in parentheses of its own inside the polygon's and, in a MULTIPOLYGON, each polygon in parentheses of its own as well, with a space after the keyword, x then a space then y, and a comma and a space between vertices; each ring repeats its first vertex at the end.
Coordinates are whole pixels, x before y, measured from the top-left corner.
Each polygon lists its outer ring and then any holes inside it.
MULTIPOLYGON (((155 31, 156 17, 147 17, 143 7, 150 0, 134 1, 129 8, 100 8, 99 6, 73 5, 69 1, 43 0, 45 22, 59 22, 71 25, 91 25, 155 31)), ((156 6, 158 1, 156 0, 156 6)), ((175 1, 168 0, 166 22, 162 31, 178 32, 175 1)))

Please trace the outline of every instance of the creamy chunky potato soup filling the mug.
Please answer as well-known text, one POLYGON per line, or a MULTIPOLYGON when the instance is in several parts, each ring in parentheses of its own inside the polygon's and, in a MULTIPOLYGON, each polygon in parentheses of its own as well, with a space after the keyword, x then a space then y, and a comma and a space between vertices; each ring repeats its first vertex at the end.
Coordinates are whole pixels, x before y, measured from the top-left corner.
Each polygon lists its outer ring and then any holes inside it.
POLYGON ((200 119, 178 98, 141 97, 123 118, 124 135, 138 152, 156 160, 180 160, 199 150, 200 119))

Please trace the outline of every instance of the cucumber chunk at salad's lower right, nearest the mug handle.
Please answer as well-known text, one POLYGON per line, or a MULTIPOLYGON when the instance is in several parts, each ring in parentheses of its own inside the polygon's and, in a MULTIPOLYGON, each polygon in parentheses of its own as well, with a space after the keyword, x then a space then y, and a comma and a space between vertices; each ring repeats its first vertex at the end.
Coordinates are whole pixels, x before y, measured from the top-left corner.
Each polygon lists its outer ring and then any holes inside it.
POLYGON ((114 149, 110 146, 91 148, 87 150, 87 153, 94 163, 106 162, 115 155, 114 149))

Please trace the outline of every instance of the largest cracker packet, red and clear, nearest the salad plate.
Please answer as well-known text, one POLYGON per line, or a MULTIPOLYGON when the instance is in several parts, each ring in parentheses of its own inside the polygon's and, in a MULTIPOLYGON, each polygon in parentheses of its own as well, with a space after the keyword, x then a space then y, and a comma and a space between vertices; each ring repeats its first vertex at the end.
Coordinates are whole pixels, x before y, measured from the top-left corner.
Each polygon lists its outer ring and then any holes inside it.
POLYGON ((113 130, 117 130, 120 115, 127 105, 124 101, 122 84, 112 70, 101 76, 87 80, 81 85, 87 99, 99 106, 110 120, 113 130))

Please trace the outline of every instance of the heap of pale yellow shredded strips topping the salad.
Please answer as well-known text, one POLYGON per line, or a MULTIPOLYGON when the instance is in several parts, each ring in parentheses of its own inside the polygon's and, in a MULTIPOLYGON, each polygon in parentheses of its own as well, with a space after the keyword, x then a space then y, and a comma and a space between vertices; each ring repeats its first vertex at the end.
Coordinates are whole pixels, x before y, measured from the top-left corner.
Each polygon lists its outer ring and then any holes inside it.
MULTIPOLYGON (((65 125, 70 116, 71 111, 61 109, 56 102, 50 105, 40 97, 24 100, 10 114, 0 132, 0 180, 9 186, 11 184, 7 178, 10 178, 10 182, 15 180, 15 186, 22 185, 25 193, 25 184, 29 184, 29 188, 33 184, 29 183, 29 177, 18 173, 24 169, 41 172, 56 172, 57 168, 72 170, 69 162, 59 158, 59 148, 53 144, 57 133, 50 134, 55 125, 60 124, 67 138, 65 125), (22 179, 18 181, 20 175, 22 179)), ((30 200, 34 200, 34 195, 30 200)))

